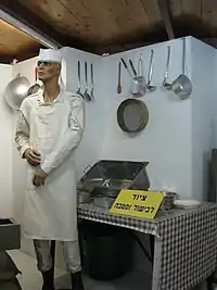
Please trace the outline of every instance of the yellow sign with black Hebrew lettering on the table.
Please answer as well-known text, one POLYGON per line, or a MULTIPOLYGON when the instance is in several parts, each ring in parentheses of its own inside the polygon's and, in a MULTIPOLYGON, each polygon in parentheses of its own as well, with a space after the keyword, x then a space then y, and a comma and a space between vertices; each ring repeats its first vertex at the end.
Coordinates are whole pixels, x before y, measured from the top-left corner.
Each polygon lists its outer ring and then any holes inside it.
POLYGON ((110 213, 153 219, 164 199, 164 192, 122 190, 110 213))

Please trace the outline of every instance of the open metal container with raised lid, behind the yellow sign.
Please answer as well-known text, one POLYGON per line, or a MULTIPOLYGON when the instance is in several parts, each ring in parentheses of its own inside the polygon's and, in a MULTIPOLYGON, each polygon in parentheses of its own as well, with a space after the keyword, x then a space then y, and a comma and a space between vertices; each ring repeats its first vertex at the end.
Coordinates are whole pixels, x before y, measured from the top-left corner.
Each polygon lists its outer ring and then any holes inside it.
POLYGON ((80 179, 79 187, 92 188, 94 193, 117 197, 122 189, 148 190, 148 162, 102 160, 80 179))

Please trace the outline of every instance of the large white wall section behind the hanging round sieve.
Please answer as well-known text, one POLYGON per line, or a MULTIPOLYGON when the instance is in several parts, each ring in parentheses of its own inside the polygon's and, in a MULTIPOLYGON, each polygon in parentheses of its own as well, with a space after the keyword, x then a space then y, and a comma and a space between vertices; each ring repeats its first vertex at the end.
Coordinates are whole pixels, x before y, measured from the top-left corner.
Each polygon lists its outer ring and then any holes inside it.
MULTIPOLYGON (((101 74, 104 84, 106 118, 103 141, 103 157, 149 161, 149 176, 152 188, 175 190, 180 197, 191 197, 191 101, 180 101, 173 93, 162 88, 165 73, 167 46, 171 47, 169 81, 175 79, 181 70, 180 39, 151 47, 115 54, 103 60, 106 77, 101 74), (123 93, 116 92, 117 65, 120 56, 132 59, 136 63, 142 53, 148 75, 150 51, 154 49, 153 83, 157 90, 146 93, 142 101, 150 112, 148 127, 139 135, 129 137, 123 133, 116 122, 118 104, 129 96, 127 72, 123 68, 123 93), (186 142, 183 142, 186 140, 186 142)), ((187 41, 190 59, 189 40, 187 41)))

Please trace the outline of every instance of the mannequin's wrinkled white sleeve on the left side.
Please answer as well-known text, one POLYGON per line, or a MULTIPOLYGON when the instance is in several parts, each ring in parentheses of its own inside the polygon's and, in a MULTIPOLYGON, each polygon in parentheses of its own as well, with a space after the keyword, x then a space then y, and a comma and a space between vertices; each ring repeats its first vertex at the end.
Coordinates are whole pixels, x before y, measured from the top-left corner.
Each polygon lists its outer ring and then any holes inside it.
POLYGON ((26 149, 30 147, 28 119, 29 119, 29 105, 26 101, 24 101, 20 110, 20 115, 16 124, 16 131, 15 131, 15 142, 22 157, 26 149))

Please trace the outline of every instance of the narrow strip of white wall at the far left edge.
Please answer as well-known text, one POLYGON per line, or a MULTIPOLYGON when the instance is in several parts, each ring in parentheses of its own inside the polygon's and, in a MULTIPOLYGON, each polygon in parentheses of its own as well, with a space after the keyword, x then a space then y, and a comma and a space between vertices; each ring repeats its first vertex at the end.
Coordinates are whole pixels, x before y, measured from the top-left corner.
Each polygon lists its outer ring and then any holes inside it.
POLYGON ((12 192, 12 118, 11 110, 4 101, 4 88, 12 79, 11 65, 0 64, 0 217, 13 216, 12 192))

